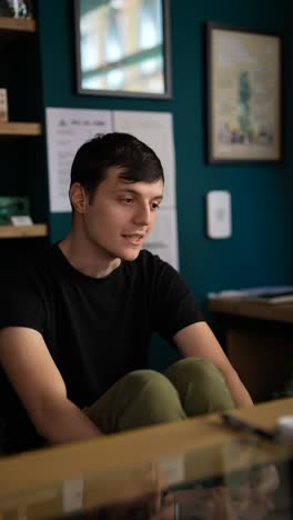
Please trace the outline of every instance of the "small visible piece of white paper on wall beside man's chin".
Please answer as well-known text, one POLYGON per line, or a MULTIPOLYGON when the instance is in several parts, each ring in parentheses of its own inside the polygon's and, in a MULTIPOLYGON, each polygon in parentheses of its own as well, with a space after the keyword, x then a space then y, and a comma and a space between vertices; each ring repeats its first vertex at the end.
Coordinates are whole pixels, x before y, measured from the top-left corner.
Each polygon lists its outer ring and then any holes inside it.
POLYGON ((154 228, 143 246, 179 270, 178 223, 174 208, 161 208, 154 228))

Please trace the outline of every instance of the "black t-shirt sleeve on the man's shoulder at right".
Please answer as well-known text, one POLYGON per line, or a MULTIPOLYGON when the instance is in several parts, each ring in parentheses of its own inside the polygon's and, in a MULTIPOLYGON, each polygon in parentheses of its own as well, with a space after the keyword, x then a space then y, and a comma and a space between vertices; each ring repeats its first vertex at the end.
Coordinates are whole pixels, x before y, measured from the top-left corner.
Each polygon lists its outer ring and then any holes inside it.
POLYGON ((170 341, 180 330, 204 319, 182 276, 158 257, 156 262, 153 323, 159 334, 170 341))

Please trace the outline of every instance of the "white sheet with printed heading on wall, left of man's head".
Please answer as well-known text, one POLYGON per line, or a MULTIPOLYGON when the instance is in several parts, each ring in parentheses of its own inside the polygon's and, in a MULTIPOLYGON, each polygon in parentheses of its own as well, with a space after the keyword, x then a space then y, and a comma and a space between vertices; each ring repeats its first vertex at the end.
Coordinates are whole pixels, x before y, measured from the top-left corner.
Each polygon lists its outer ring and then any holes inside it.
POLYGON ((80 146, 97 133, 112 131, 110 110, 46 109, 50 211, 71 211, 70 170, 80 146))

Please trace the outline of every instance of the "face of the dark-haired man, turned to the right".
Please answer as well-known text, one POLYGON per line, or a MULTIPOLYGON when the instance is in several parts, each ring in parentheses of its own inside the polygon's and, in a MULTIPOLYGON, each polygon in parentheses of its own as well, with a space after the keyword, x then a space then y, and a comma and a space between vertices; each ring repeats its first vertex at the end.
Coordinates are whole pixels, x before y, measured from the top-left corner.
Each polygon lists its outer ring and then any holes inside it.
MULTIPOLYGON (((152 230, 163 198, 163 180, 130 183, 119 178, 121 169, 108 169, 83 213, 91 246, 112 260, 135 260, 152 230)), ((98 252, 98 251, 97 251, 98 252)))

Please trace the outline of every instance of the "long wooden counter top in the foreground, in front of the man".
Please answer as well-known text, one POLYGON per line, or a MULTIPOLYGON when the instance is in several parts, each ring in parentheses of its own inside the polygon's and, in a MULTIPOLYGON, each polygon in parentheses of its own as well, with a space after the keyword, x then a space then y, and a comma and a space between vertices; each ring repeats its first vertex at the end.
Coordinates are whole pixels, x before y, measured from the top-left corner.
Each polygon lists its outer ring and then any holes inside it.
MULTIPOLYGON (((293 413, 293 399, 233 413, 274 430, 280 416, 293 413)), ((0 459, 0 518, 61 516, 70 510, 64 493, 74 486, 83 508, 103 506, 158 489, 162 473, 166 486, 195 481, 282 460, 292 450, 267 441, 250 444, 247 433, 223 426, 215 413, 8 457, 0 459)))

